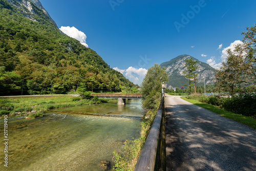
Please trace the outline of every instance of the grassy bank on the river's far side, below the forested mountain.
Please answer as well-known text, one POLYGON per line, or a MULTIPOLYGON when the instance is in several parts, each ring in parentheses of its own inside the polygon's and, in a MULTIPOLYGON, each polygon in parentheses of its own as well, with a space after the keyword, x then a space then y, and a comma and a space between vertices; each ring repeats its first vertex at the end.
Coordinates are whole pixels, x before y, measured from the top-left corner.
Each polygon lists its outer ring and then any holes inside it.
POLYGON ((36 118, 44 115, 50 109, 67 108, 83 104, 102 103, 115 101, 115 99, 82 99, 74 96, 24 96, 1 97, 0 117, 2 115, 26 115, 28 118, 36 118))

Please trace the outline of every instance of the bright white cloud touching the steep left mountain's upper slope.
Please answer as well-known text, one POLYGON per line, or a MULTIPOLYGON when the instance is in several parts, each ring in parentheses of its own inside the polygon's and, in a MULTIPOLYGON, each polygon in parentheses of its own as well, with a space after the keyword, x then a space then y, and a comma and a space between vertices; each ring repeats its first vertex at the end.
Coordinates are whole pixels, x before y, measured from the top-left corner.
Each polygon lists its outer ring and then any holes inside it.
POLYGON ((61 26, 59 30, 61 30, 63 33, 67 34, 68 36, 77 39, 78 41, 81 42, 83 46, 88 48, 88 45, 86 44, 86 38, 87 38, 86 34, 79 31, 77 28, 69 27, 69 26, 67 27, 61 26))

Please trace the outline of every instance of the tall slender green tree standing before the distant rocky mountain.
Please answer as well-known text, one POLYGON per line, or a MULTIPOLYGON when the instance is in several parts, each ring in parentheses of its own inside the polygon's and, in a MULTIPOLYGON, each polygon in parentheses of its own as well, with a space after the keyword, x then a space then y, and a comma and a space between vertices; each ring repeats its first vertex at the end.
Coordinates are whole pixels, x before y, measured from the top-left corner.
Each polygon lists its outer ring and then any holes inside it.
POLYGON ((196 93, 196 76, 194 72, 199 68, 197 65, 197 61, 194 61, 193 58, 186 59, 185 60, 185 66, 186 69, 183 71, 183 74, 185 74, 186 79, 188 79, 189 82, 189 94, 191 93, 191 87, 195 86, 195 93, 196 93), (194 84, 191 84, 191 79, 194 78, 194 84))

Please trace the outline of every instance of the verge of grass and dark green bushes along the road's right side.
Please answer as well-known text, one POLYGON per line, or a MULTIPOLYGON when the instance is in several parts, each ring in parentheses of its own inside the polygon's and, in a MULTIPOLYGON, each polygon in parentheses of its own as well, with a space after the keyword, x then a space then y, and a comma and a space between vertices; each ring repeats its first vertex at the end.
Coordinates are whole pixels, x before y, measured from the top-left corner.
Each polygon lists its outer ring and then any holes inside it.
POLYGON ((209 111, 256 129, 255 94, 240 94, 232 97, 191 94, 182 98, 209 111))

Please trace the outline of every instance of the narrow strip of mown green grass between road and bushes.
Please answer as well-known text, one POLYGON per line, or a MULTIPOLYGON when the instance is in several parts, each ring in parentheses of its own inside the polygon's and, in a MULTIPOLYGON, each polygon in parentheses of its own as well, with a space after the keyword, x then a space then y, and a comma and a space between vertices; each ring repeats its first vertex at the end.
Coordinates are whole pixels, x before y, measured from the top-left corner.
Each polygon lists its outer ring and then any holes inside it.
POLYGON ((237 121, 239 123, 243 123, 245 125, 248 125, 250 127, 253 127, 254 129, 256 129, 256 119, 253 119, 252 117, 243 116, 243 115, 240 115, 240 114, 235 114, 235 113, 232 113, 232 112, 228 112, 228 111, 225 111, 223 109, 218 108, 215 105, 202 103, 198 100, 187 99, 186 97, 181 97, 181 98, 190 102, 190 103, 196 104, 196 105, 198 105, 198 106, 200 106, 204 109, 207 109, 211 112, 215 112, 215 113, 217 113, 221 116, 227 117, 229 119, 232 119, 232 120, 237 121))

